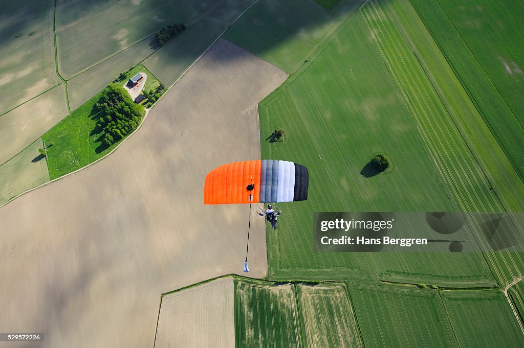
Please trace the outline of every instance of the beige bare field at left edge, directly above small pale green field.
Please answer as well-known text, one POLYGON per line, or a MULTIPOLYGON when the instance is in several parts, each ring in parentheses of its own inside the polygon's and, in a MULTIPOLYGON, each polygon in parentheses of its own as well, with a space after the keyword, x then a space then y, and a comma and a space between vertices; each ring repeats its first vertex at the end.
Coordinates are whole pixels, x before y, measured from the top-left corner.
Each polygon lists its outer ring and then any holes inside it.
POLYGON ((0 164, 24 150, 68 115, 63 85, 0 117, 0 164))

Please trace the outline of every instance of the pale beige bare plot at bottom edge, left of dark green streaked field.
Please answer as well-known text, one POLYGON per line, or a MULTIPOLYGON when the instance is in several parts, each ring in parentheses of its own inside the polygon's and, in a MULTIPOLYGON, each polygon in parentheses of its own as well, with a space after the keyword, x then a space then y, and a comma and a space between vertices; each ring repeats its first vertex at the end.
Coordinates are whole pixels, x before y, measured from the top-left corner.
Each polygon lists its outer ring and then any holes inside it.
POLYGON ((162 298, 155 348, 235 346, 233 277, 162 298))

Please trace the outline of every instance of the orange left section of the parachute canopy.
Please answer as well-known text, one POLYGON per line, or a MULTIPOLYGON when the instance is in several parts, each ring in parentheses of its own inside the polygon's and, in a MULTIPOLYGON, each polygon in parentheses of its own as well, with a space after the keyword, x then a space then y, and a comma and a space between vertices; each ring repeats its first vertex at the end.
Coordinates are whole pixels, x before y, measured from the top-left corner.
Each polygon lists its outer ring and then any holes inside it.
POLYGON ((243 161, 221 165, 205 177, 204 204, 260 202, 262 161, 243 161), (253 184, 249 191, 247 186, 253 184))

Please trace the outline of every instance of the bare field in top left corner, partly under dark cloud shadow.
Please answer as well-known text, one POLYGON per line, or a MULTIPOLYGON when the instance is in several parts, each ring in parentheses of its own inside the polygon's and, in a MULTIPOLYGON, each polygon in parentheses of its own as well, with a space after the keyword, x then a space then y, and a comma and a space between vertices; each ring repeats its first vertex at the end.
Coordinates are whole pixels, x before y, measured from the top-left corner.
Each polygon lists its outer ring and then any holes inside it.
POLYGON ((52 9, 52 0, 2 2, 0 115, 60 82, 54 71, 52 9))

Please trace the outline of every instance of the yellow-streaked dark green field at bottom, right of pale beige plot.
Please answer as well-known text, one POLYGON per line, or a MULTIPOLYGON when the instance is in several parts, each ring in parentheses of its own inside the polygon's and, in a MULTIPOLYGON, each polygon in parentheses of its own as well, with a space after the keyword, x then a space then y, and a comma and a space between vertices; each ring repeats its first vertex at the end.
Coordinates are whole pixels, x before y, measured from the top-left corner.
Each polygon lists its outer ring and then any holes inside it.
POLYGON ((343 282, 235 278, 235 330, 238 348, 363 346, 343 282))

